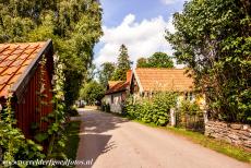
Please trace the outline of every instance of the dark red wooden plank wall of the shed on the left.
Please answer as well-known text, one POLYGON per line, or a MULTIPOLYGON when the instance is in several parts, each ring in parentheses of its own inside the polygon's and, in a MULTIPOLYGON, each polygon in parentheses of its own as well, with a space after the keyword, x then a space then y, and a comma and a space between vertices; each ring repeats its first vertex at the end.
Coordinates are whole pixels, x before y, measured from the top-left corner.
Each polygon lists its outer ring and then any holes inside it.
POLYGON ((14 103, 17 127, 27 139, 32 139, 35 135, 35 131, 32 129, 35 122, 38 124, 40 131, 47 130, 48 123, 41 121, 41 117, 52 111, 51 73, 49 73, 48 68, 44 68, 44 76, 41 76, 41 68, 38 67, 36 69, 36 72, 26 86, 23 98, 14 103), (45 80, 44 98, 38 96, 41 77, 45 80))

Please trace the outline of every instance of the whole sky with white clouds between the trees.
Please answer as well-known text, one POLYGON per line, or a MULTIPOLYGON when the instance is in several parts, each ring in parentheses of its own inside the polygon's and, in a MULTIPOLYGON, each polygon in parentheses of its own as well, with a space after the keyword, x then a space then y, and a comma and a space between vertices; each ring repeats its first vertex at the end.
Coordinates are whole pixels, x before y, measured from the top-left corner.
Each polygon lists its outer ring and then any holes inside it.
POLYGON ((184 0, 100 0, 104 36, 95 47, 97 67, 115 62, 119 47, 128 47, 130 59, 150 57, 156 51, 171 55, 165 29, 175 32, 172 14, 182 10, 184 0))

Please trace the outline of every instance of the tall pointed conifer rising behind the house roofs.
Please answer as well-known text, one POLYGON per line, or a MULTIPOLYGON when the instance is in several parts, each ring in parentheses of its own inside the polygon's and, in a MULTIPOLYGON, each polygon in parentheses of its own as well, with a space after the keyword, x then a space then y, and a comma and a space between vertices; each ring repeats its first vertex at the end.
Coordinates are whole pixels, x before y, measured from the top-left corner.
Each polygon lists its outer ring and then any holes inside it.
POLYGON ((120 55, 118 57, 118 63, 116 67, 115 74, 112 75, 113 81, 125 81, 127 71, 131 69, 131 61, 128 56, 128 48, 124 45, 121 45, 120 55))

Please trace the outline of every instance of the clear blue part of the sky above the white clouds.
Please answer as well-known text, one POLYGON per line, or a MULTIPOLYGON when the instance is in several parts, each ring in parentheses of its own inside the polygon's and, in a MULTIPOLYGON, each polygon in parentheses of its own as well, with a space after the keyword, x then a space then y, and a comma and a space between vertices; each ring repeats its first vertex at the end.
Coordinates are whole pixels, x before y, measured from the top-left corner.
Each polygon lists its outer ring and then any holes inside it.
POLYGON ((162 0, 101 0, 104 24, 108 27, 118 26, 129 13, 136 15, 136 22, 163 15, 168 20, 170 14, 180 11, 183 0, 165 4, 162 0))

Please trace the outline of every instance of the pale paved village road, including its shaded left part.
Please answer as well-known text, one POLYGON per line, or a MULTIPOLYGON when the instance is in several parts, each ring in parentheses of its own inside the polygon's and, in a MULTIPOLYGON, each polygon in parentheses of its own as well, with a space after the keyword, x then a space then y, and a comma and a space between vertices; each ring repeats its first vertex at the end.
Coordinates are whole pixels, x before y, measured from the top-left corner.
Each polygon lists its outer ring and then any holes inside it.
POLYGON ((94 168, 251 167, 165 130, 96 110, 80 113, 77 159, 93 159, 94 168))

